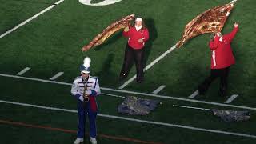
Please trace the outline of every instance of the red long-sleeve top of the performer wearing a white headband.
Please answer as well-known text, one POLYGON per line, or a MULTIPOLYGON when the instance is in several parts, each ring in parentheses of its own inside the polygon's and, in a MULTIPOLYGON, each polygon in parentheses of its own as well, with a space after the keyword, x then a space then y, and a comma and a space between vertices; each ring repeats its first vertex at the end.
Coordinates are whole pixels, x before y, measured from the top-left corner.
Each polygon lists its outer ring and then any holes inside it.
POLYGON ((123 31, 125 37, 129 37, 128 45, 134 49, 142 49, 145 45, 145 42, 150 38, 149 31, 147 29, 136 30, 136 28, 129 27, 129 31, 123 31), (138 39, 143 39, 143 42, 138 42, 138 39))

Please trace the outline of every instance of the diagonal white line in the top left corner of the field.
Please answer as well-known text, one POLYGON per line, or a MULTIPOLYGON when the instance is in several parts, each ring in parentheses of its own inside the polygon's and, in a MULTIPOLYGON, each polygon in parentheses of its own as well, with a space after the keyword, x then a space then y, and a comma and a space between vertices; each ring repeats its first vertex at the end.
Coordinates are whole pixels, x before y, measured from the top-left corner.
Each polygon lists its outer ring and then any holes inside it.
POLYGON ((28 19, 26 19, 26 21, 24 21, 24 22, 18 24, 17 26, 14 26, 14 28, 12 28, 12 29, 10 29, 10 30, 7 30, 4 34, 1 34, 1 35, 0 35, 0 39, 3 38, 3 37, 5 37, 7 34, 10 34, 10 33, 13 32, 14 30, 17 30, 19 27, 25 25, 27 22, 32 21, 34 18, 37 18, 39 15, 44 14, 46 11, 48 11, 48 10, 54 8, 54 6, 57 6, 58 4, 60 4, 60 3, 63 2, 63 1, 64 1, 64 0, 59 0, 58 2, 55 2, 53 5, 47 7, 46 9, 44 9, 44 10, 42 10, 42 11, 40 11, 38 14, 35 14, 33 17, 28 18, 28 19))

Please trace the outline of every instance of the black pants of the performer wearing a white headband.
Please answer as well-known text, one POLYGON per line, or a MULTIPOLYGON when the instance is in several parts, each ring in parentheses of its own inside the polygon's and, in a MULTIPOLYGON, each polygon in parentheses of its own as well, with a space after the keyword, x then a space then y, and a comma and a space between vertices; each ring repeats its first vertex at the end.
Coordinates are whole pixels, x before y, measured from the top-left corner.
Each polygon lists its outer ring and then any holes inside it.
POLYGON ((130 67, 135 61, 136 71, 137 71, 137 82, 143 81, 143 58, 144 58, 144 48, 135 50, 131 48, 128 44, 126 45, 125 58, 122 64, 122 70, 120 72, 120 79, 126 78, 129 74, 130 67))

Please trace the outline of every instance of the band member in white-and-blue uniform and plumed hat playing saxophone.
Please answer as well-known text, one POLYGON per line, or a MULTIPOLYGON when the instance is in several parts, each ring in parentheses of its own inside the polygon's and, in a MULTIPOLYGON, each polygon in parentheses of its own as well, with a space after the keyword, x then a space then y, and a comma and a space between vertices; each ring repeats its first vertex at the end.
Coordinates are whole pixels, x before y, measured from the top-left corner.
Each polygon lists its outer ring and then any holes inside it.
POLYGON ((98 78, 90 76, 90 58, 84 59, 80 66, 81 76, 74 78, 71 94, 78 100, 78 134, 74 144, 84 141, 86 117, 90 122, 90 142, 97 144, 96 116, 98 106, 96 97, 101 93, 98 78))

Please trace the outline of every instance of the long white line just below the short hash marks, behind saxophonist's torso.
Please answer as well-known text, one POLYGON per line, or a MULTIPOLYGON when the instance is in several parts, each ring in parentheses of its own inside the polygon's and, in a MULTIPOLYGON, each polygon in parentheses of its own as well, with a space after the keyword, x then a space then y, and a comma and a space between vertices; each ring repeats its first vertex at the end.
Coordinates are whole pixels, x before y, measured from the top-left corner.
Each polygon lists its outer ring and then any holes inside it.
MULTIPOLYGON (((59 85, 72 86, 72 83, 50 81, 50 80, 44 80, 44 79, 39 79, 39 78, 26 78, 26 77, 22 77, 22 76, 18 76, 18 75, 0 74, 0 76, 9 77, 9 78, 26 79, 26 80, 37 81, 37 82, 46 82, 46 83, 54 83, 54 84, 59 84, 59 85)), ((249 106, 236 106, 236 105, 230 105, 230 104, 225 104, 225 103, 206 102, 206 101, 199 101, 199 100, 195 100, 195 99, 170 97, 170 96, 166 96, 166 95, 148 94, 148 93, 141 93, 141 92, 135 92, 135 91, 129 91, 129 90, 115 90, 115 89, 106 88, 106 87, 101 87, 101 89, 102 90, 108 90, 108 91, 114 91, 114 92, 118 92, 118 93, 144 95, 144 96, 154 97, 154 98, 166 98, 166 99, 174 99, 174 100, 178 100, 178 101, 204 103, 204 104, 209 104, 209 105, 214 105, 214 106, 226 106, 226 107, 233 107, 233 108, 246 109, 246 110, 256 110, 255 107, 249 107, 249 106)))

